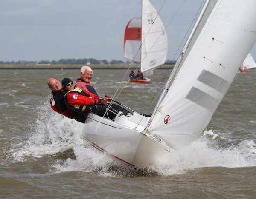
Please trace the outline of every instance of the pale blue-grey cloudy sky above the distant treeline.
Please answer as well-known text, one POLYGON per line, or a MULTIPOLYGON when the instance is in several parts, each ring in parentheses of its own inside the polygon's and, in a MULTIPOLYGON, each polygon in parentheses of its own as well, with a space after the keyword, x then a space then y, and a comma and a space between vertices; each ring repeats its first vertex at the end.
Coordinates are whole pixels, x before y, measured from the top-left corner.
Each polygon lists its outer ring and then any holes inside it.
MULTIPOLYGON (((151 0, 166 26, 167 59, 177 59, 175 54, 202 2, 151 0)), ((141 15, 141 0, 1 0, 0 5, 0 61, 126 61, 125 26, 141 15)), ((255 59, 255 46, 251 54, 255 59)))

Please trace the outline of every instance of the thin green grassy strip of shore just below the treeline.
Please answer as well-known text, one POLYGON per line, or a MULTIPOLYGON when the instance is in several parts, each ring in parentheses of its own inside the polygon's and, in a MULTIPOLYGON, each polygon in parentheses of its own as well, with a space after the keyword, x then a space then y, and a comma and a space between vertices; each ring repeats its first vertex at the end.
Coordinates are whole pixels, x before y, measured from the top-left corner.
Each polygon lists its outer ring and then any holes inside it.
MULTIPOLYGON (((3 64, 0 65, 0 69, 5 69, 5 68, 81 68, 83 65, 46 65, 46 64, 37 64, 37 65, 22 65, 22 64, 3 64)), ((97 64, 93 64, 93 65, 89 65, 91 68, 129 68, 130 69, 136 69, 138 67, 138 65, 136 64, 132 64, 132 65, 128 65, 128 64, 116 64, 116 65, 97 65, 97 64)), ((172 65, 161 65, 159 68, 173 68, 173 64, 172 65)))

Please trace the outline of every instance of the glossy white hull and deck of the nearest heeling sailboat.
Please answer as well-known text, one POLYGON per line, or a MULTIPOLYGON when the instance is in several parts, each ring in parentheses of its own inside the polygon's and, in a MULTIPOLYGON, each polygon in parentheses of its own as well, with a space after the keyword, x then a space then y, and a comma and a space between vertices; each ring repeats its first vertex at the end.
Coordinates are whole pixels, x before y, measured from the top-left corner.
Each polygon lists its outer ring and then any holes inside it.
POLYGON ((173 149, 153 136, 142 133, 148 119, 135 113, 132 116, 118 115, 112 121, 89 114, 83 129, 84 145, 90 143, 133 167, 150 165, 167 156, 173 149), (136 122, 141 119, 142 125, 137 126, 136 122))

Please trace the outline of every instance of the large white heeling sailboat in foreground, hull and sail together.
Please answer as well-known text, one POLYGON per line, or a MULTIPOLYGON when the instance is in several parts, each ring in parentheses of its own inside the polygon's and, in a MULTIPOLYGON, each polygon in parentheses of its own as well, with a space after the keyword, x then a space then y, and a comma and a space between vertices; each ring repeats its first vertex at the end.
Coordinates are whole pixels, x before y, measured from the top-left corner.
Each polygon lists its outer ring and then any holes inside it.
POLYGON ((255 10, 255 0, 207 0, 151 118, 89 114, 84 144, 143 166, 198 139, 256 41, 255 10))

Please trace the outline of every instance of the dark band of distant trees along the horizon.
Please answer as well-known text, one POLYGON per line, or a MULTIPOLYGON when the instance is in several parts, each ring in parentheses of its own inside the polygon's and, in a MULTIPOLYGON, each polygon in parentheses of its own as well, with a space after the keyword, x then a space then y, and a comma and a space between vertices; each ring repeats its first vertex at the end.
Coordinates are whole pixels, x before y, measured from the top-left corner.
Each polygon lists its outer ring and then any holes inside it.
MULTIPOLYGON (((166 60, 165 64, 175 64, 176 61, 166 60)), ((0 61, 0 65, 126 65, 131 64, 131 61, 122 61, 122 60, 112 60, 108 62, 108 60, 96 60, 93 58, 90 59, 60 59, 58 61, 48 61, 41 60, 39 62, 36 61, 11 61, 11 62, 3 62, 0 61)))

